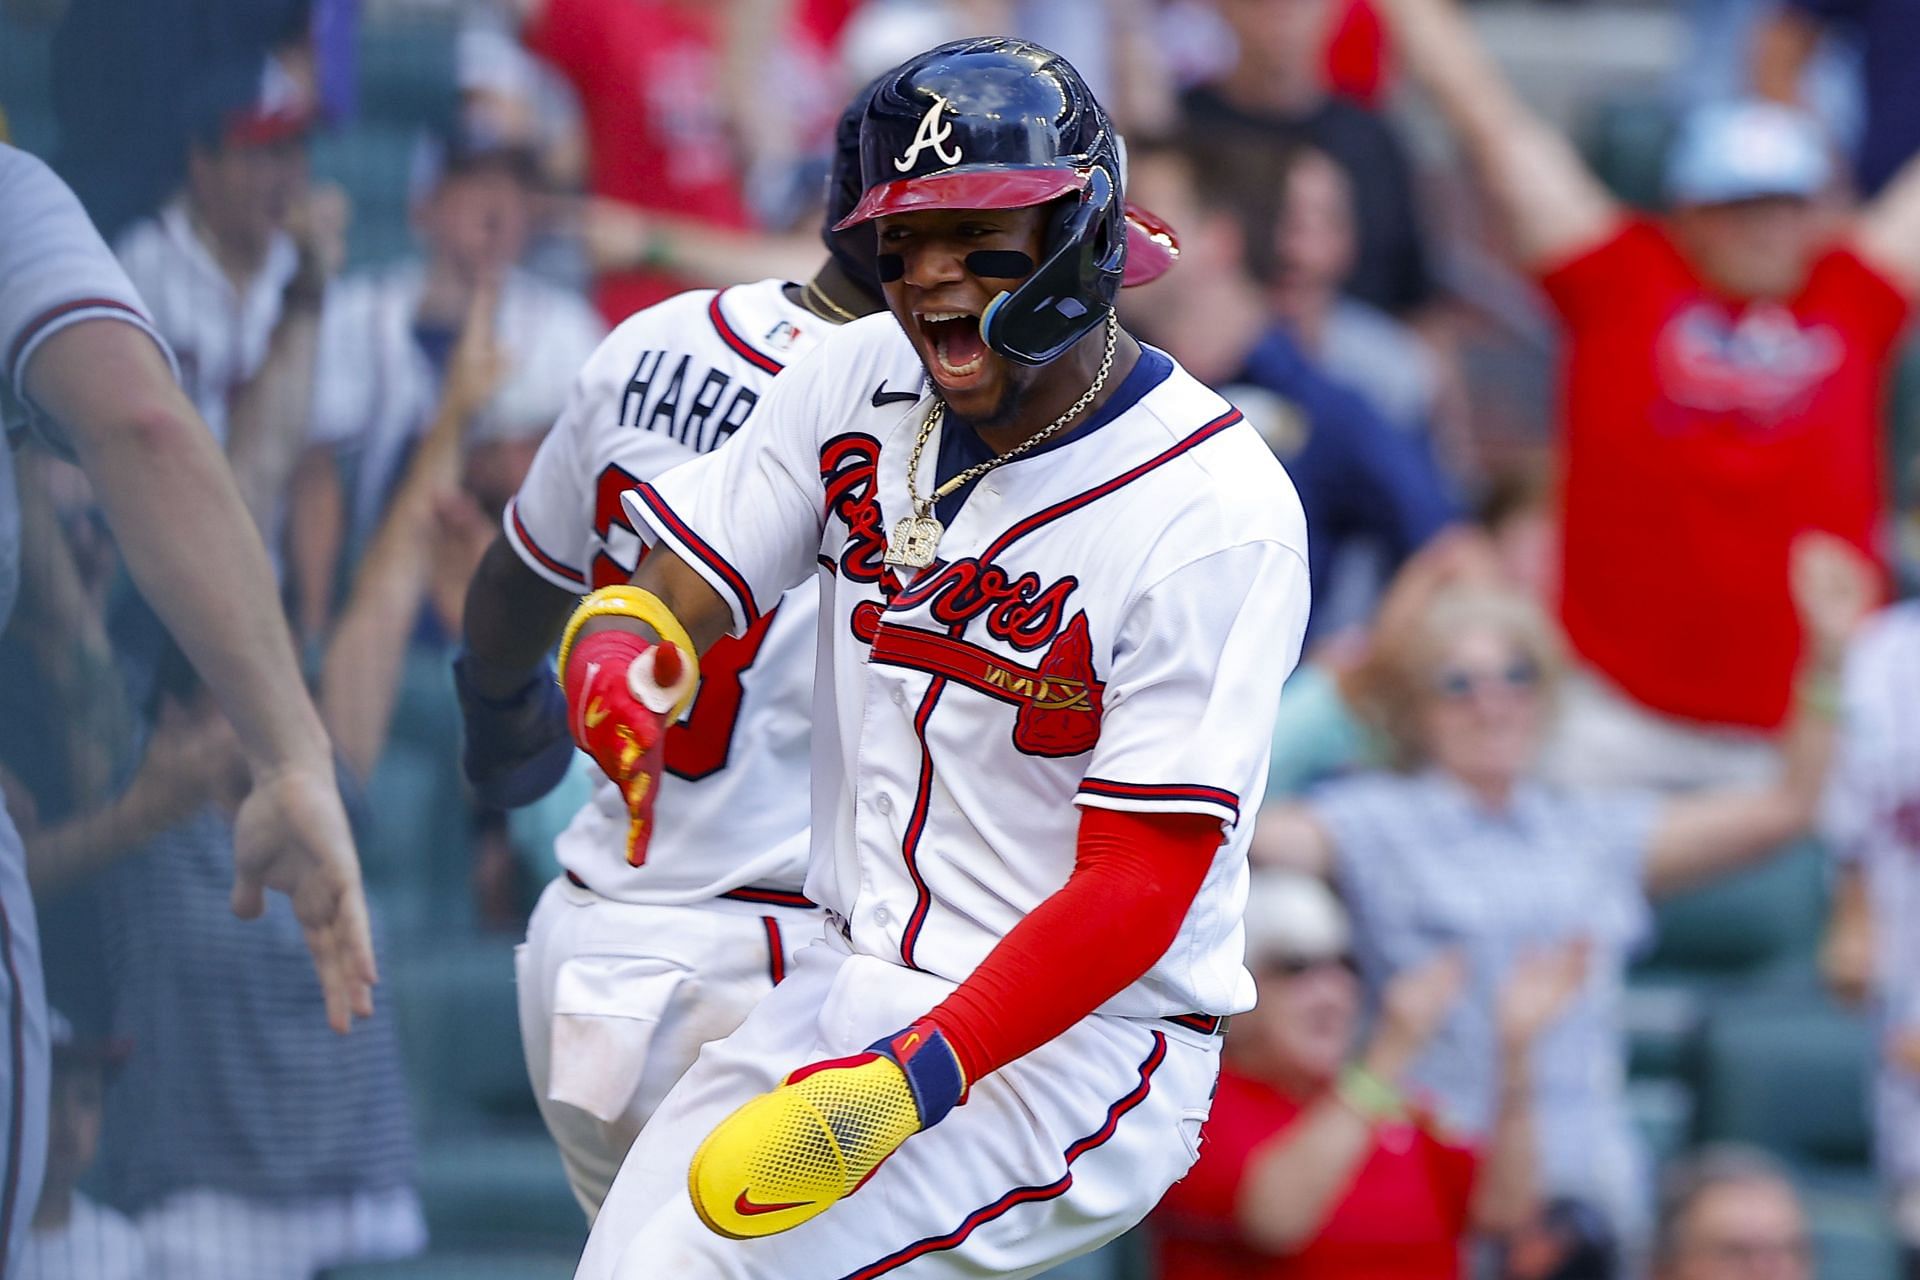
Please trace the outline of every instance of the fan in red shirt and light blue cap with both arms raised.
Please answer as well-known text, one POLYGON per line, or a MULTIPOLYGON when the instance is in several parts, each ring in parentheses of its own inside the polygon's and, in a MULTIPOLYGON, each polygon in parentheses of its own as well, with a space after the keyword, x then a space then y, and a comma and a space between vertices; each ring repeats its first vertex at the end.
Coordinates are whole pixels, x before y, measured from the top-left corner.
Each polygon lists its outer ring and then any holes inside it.
POLYGON ((1452 0, 1380 10, 1567 322, 1561 618, 1574 649, 1607 697, 1661 718, 1647 718, 1657 733, 1772 733, 1799 656, 1788 547, 1826 530, 1878 551, 1882 397, 1920 286, 1920 167, 1841 226, 1822 203, 1814 125, 1718 104, 1668 157, 1672 213, 1642 221, 1521 104, 1452 0))

